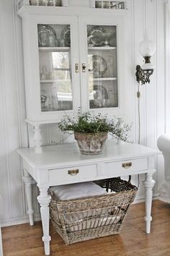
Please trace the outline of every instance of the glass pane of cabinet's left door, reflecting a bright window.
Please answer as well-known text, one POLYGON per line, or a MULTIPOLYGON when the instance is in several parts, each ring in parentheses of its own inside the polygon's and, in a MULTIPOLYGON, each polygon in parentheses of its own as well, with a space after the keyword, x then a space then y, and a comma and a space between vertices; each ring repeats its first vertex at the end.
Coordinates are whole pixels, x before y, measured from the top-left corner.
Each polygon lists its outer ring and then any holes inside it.
POLYGON ((70 25, 37 25, 41 111, 73 109, 70 25))

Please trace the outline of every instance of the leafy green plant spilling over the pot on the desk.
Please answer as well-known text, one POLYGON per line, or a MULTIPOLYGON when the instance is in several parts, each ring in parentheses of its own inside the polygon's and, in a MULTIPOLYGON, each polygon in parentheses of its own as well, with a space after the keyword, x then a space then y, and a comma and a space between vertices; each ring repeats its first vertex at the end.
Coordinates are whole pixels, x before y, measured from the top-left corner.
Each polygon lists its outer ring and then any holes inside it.
POLYGON ((128 132, 132 124, 126 124, 122 118, 114 117, 108 119, 107 115, 93 115, 90 112, 81 114, 77 117, 64 116, 58 124, 58 128, 62 132, 81 132, 81 133, 99 133, 108 132, 113 137, 127 141, 128 132))

